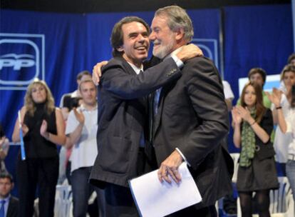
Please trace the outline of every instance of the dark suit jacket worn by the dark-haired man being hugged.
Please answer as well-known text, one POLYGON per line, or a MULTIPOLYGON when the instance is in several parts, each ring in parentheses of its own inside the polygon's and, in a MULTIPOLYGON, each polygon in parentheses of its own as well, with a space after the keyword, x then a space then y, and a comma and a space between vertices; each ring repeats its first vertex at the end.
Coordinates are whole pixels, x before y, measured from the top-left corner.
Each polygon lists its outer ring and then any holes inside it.
POLYGON ((139 75, 123 58, 111 59, 103 68, 98 86, 98 157, 90 183, 128 186, 128 180, 138 176, 140 136, 148 121, 148 99, 140 97, 180 75, 172 59, 139 75))

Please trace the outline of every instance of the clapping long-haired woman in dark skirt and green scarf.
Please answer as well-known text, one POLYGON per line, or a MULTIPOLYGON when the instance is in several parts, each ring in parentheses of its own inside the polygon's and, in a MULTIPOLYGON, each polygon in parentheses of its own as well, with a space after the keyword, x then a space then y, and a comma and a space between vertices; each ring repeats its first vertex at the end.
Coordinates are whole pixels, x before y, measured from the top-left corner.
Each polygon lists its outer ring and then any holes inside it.
POLYGON ((242 216, 252 216, 252 193, 256 192, 259 216, 269 214, 269 190, 278 188, 274 148, 270 142, 273 129, 271 111, 263 106, 262 89, 247 84, 241 106, 232 110, 234 145, 242 148, 237 174, 237 190, 242 216))

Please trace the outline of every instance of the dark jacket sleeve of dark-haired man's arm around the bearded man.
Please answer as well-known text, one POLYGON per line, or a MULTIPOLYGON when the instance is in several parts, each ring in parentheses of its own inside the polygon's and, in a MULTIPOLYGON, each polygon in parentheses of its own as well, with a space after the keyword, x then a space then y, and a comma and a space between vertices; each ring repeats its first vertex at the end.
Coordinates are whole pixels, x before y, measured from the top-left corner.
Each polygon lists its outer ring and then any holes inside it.
MULTIPOLYGON (((124 64, 124 63, 123 63, 124 64)), ((122 99, 137 99, 150 94, 169 81, 178 79, 181 75, 172 58, 135 75, 130 66, 122 65, 118 59, 113 59, 103 69, 101 86, 122 99), (130 69, 130 72, 124 70, 130 69)))

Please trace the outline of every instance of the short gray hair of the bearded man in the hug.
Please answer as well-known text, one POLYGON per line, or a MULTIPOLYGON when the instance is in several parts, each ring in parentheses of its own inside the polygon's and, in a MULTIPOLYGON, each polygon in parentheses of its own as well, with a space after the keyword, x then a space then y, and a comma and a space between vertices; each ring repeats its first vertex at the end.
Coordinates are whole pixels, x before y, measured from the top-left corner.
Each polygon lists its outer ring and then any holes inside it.
POLYGON ((167 16, 168 26, 172 31, 182 28, 185 32, 185 40, 187 42, 192 41, 194 36, 194 27, 192 26, 192 20, 188 16, 185 9, 180 6, 172 5, 165 6, 155 11, 155 16, 167 16))

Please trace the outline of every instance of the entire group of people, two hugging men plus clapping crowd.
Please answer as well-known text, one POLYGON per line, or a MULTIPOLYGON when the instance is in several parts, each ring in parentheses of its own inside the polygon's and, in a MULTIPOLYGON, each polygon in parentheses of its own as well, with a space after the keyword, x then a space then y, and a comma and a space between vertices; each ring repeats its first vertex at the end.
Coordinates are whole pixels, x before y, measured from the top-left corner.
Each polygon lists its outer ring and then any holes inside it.
POLYGON ((17 158, 19 200, 10 194, 14 179, 4 164, 9 142, 0 128, 0 217, 33 216, 37 188, 39 215, 53 216, 56 185, 66 179, 73 216, 138 216, 130 178, 159 169, 160 182, 180 183, 183 161, 202 202, 170 216, 217 216, 215 202, 232 192, 229 111, 234 146, 241 149, 242 216, 252 216, 253 192, 259 216, 270 216, 269 191, 279 187, 275 162, 295 193, 295 54, 272 93, 263 91, 266 71, 251 69, 232 107, 230 85, 190 44, 193 34, 190 16, 179 6, 158 9, 151 29, 128 16, 113 28, 113 59, 96 64, 92 77, 78 74, 77 90, 63 95, 60 108, 46 82, 34 80, 12 135, 14 142, 24 139, 26 152, 26 160, 17 158), (153 57, 147 61, 150 41, 153 57), (93 191, 94 212, 88 205, 93 191))

